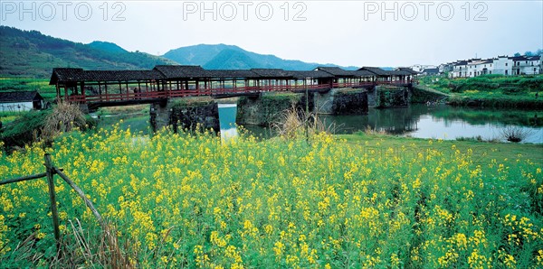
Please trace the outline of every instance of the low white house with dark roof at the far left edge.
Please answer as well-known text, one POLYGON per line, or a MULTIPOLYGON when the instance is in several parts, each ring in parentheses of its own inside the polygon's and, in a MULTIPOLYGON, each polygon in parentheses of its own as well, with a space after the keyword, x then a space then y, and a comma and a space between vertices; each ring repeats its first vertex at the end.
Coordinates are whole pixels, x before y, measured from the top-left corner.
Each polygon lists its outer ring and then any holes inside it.
POLYGON ((0 112, 21 112, 44 107, 37 91, 0 92, 0 112))

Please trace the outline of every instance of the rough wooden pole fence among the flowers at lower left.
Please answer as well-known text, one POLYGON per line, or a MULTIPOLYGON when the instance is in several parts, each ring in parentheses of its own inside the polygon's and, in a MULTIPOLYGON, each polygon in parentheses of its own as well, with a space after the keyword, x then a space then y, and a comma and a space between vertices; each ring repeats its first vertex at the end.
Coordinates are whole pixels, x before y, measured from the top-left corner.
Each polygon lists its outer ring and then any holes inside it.
POLYGON ((45 153, 45 155, 43 156, 43 159, 45 161, 43 163, 43 165, 45 166, 45 172, 33 174, 29 176, 24 176, 24 177, 20 177, 16 179, 0 181, 0 186, 9 184, 9 183, 14 183, 14 182, 31 181, 31 180, 41 179, 45 177, 47 178, 47 183, 49 186, 49 199, 51 201, 52 226, 53 226, 53 231, 54 231, 54 239, 56 240, 57 250, 60 249, 61 232, 59 230, 59 214, 56 208, 56 193, 54 190, 53 176, 55 174, 59 175, 62 178, 62 180, 66 181, 66 183, 70 185, 71 189, 75 190, 77 195, 79 195, 79 197, 83 199, 83 201, 85 202, 85 205, 87 205, 90 211, 92 211, 92 214, 94 215, 94 217, 98 219, 98 222, 100 223, 100 227, 102 227, 105 230, 106 224, 104 223, 104 220, 101 218, 100 213, 98 213, 98 210, 96 210, 96 208, 94 207, 90 199, 88 199, 85 196, 85 193, 83 192, 83 190, 81 190, 81 188, 79 188, 73 181, 71 181, 71 179, 62 172, 62 169, 57 168, 52 164, 51 155, 49 153, 45 153))

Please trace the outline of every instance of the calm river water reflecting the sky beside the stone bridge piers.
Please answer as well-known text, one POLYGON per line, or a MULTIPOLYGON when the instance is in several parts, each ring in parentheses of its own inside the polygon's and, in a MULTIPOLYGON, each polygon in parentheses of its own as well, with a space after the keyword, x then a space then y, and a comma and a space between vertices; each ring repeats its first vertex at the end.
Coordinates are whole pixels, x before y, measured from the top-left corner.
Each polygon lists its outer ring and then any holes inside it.
MULTIPOLYGON (((224 107, 221 132, 235 122, 235 105, 224 107)), ((219 116, 221 116, 219 109, 219 116)), ((319 116, 335 134, 352 134, 371 127, 393 135, 453 140, 459 137, 481 137, 483 140, 501 138, 505 126, 518 126, 530 135, 523 143, 543 143, 543 111, 511 109, 481 109, 446 105, 411 105, 402 108, 370 109, 367 115, 319 116)), ((255 135, 270 137, 269 128, 245 126, 255 135)), ((228 131, 233 132, 233 131, 228 131)))

